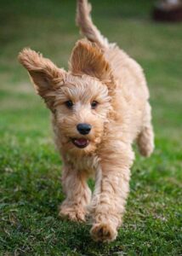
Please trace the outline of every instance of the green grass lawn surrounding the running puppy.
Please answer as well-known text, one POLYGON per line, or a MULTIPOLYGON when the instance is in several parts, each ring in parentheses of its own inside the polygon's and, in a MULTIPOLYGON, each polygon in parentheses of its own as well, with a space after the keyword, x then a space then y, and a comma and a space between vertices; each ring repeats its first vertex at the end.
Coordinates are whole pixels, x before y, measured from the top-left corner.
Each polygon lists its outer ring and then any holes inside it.
MULTIPOLYGON (((64 195, 49 113, 16 56, 31 46, 67 66, 79 38, 75 1, 2 0, 0 9, 0 255, 181 255, 182 25, 156 24, 152 1, 92 1, 94 20, 144 67, 156 150, 137 153, 117 241, 58 218, 64 195)), ((93 188, 94 184, 90 183, 93 188)))

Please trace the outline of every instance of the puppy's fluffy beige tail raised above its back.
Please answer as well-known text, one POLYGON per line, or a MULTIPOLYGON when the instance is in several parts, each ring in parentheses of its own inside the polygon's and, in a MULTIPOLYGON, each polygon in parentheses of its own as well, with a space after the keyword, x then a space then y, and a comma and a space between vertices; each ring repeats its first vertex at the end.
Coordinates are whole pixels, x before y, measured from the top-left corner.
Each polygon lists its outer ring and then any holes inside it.
POLYGON ((92 6, 88 0, 77 0, 77 26, 80 26, 82 34, 88 38, 89 41, 98 44, 101 48, 108 48, 109 43, 98 28, 94 26, 90 16, 92 6))

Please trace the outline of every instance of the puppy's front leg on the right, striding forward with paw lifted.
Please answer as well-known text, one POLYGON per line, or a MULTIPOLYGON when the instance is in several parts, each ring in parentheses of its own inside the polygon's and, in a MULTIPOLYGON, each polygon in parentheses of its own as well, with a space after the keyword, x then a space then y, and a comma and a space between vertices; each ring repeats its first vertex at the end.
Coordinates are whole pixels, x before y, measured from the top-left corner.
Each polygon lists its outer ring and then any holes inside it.
POLYGON ((90 232, 95 241, 113 241, 117 237, 129 191, 129 167, 133 158, 129 149, 120 154, 105 154, 100 162, 90 208, 93 219, 90 232))

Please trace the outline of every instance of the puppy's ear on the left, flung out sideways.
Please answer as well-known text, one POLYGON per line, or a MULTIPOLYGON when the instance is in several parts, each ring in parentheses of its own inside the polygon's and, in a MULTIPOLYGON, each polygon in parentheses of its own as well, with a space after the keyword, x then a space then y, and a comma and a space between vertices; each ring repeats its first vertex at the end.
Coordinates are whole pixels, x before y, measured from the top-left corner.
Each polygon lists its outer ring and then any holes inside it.
POLYGON ((60 84, 64 83, 65 71, 31 49, 23 49, 18 59, 30 74, 37 93, 52 110, 55 92, 60 88, 60 84))

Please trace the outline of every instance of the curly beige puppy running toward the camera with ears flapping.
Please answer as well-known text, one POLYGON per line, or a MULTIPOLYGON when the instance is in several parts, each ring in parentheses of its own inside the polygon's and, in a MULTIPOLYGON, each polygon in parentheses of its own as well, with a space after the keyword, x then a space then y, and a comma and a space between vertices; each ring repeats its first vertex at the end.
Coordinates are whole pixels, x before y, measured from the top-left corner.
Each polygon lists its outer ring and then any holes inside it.
POLYGON ((65 201, 60 216, 92 219, 95 241, 112 241, 122 224, 132 143, 149 156, 154 148, 149 92, 139 64, 94 26, 87 0, 77 1, 77 42, 70 68, 56 67, 31 49, 19 55, 37 93, 52 112, 55 143, 64 163, 65 201), (87 179, 95 176, 94 194, 87 179))

